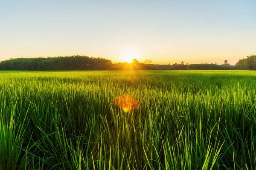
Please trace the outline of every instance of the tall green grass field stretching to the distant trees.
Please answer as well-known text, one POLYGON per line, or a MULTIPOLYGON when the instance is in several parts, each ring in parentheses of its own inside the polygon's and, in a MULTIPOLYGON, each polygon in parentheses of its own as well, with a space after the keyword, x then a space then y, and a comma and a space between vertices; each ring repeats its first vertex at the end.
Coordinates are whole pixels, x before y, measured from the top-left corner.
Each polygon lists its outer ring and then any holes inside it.
POLYGON ((0 72, 0 170, 256 170, 256 72, 0 72), (113 99, 140 102, 124 112, 113 99))

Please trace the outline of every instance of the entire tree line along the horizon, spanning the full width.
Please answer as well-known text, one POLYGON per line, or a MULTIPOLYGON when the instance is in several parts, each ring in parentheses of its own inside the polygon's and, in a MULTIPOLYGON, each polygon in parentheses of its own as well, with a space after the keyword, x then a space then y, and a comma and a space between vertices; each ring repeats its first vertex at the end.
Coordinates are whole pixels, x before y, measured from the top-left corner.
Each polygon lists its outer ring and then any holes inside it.
POLYGON ((188 64, 183 61, 180 64, 151 64, 150 59, 140 62, 133 59, 132 63, 112 63, 111 60, 101 57, 67 56, 67 57, 39 57, 39 58, 16 58, 0 62, 0 70, 23 70, 23 71, 64 71, 64 70, 255 70, 256 55, 239 59, 236 65, 228 64, 188 64))

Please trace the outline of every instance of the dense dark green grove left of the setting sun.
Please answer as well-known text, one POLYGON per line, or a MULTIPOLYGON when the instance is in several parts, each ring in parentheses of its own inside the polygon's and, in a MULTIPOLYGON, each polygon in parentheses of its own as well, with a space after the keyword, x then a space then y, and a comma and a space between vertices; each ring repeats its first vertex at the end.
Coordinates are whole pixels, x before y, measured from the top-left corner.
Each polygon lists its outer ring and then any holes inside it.
POLYGON ((27 71, 106 70, 111 66, 109 59, 87 56, 11 58, 0 62, 0 70, 27 71))

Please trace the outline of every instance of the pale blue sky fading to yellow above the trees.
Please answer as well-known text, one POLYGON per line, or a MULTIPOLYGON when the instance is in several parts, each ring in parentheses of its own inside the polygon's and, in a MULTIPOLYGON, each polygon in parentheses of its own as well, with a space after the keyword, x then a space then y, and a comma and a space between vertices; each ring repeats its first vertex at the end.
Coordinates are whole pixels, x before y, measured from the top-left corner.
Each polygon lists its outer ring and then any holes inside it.
POLYGON ((0 0, 0 60, 234 65, 256 54, 256 0, 0 0))

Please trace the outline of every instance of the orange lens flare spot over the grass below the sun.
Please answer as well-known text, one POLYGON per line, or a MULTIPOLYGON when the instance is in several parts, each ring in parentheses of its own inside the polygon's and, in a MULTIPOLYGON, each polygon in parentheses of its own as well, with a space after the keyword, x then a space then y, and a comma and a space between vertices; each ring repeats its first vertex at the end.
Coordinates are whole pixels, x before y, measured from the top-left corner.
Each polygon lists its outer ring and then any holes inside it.
POLYGON ((140 102, 134 97, 128 95, 116 97, 114 102, 124 112, 132 111, 140 107, 140 102))

